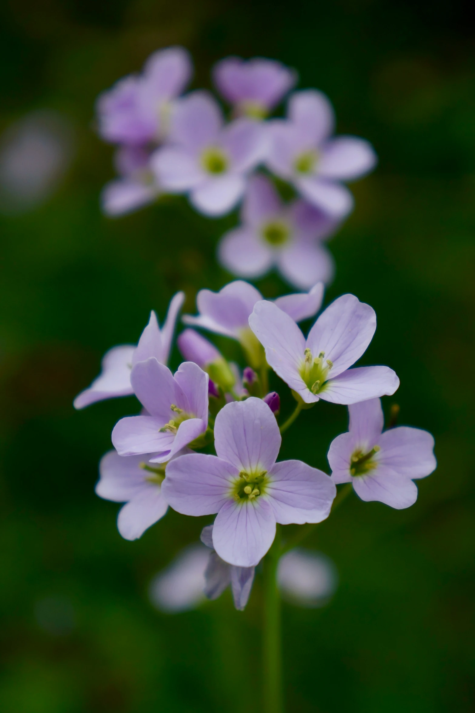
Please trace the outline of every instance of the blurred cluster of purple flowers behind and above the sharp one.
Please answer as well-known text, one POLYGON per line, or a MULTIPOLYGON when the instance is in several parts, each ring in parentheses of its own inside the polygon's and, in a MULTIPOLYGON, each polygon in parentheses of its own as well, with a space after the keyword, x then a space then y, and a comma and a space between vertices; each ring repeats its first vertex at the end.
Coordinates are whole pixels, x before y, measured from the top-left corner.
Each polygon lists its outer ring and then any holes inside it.
POLYGON ((119 178, 105 186, 103 210, 122 215, 186 194, 195 210, 217 217, 242 202, 241 225, 219 244, 227 270, 249 279, 276 267, 298 289, 330 282, 324 241, 353 208, 345 182, 375 166, 370 143, 333 137, 333 108, 314 89, 293 91, 285 118, 269 118, 298 80, 277 61, 216 64, 229 118, 210 93, 184 94, 191 78, 187 51, 167 48, 98 98, 98 131, 118 147, 119 178))

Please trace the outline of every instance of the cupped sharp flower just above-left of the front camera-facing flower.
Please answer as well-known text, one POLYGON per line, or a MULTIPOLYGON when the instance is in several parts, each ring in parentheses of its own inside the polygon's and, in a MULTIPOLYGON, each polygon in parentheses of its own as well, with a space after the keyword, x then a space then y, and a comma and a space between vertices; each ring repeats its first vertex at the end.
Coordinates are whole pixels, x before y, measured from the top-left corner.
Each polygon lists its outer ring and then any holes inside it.
POLYGON ((120 456, 157 453, 151 463, 169 461, 198 438, 208 425, 208 374, 184 361, 174 376, 151 356, 132 368, 130 383, 147 411, 115 424, 114 448, 120 456))

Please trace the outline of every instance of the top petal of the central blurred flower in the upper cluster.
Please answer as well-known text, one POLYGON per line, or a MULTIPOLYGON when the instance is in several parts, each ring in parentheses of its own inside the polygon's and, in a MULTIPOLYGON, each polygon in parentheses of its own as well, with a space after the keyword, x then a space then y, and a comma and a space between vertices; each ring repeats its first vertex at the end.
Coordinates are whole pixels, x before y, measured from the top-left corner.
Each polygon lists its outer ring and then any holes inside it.
POLYGON ((216 100, 207 92, 194 91, 177 101, 169 140, 196 153, 216 143, 222 124, 216 100))

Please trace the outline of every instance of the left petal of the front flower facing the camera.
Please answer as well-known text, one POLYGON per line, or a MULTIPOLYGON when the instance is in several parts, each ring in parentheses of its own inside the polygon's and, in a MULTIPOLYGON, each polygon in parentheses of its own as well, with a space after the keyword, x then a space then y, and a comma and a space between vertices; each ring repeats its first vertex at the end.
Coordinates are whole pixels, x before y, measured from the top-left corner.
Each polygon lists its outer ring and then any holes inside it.
POLYGON ((174 458, 165 472, 163 495, 182 515, 217 513, 232 497, 233 483, 239 478, 239 471, 231 463, 204 453, 174 458))

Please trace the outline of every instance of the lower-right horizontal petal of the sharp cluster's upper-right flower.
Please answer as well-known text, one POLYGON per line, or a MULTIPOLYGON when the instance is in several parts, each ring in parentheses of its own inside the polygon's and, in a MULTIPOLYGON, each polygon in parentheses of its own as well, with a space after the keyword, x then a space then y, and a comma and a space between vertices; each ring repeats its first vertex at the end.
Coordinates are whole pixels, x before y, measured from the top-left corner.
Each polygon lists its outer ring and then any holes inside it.
POLYGON ((398 386, 399 379, 389 366, 358 366, 327 381, 318 396, 332 404, 357 404, 377 396, 392 396, 398 386))

